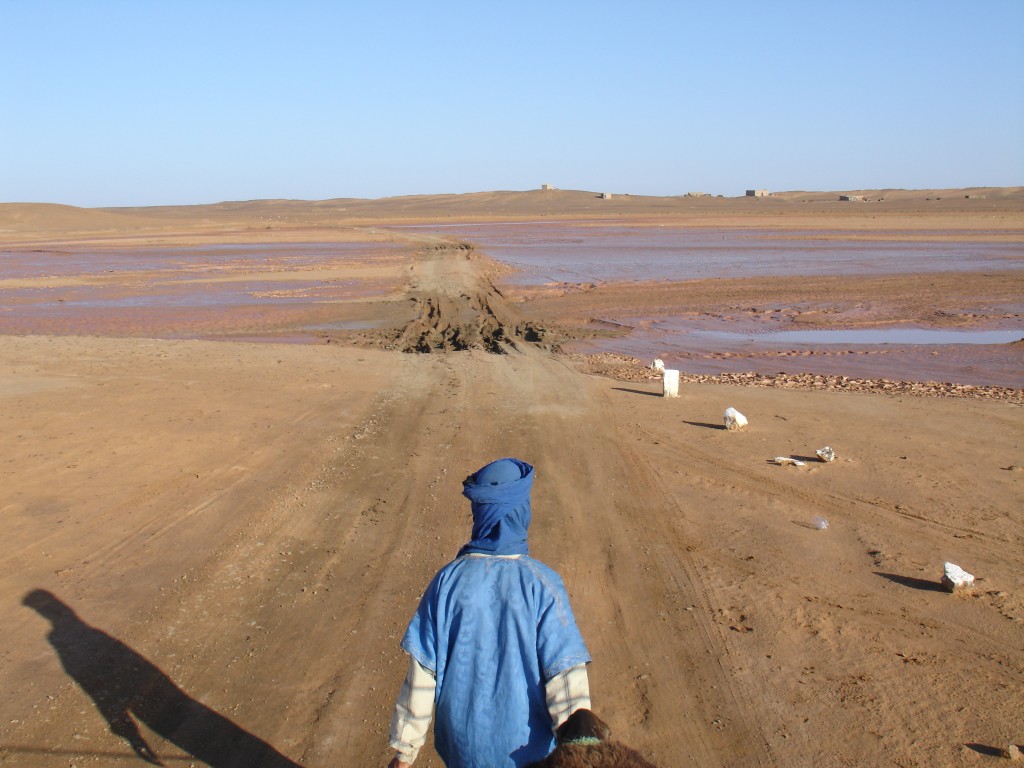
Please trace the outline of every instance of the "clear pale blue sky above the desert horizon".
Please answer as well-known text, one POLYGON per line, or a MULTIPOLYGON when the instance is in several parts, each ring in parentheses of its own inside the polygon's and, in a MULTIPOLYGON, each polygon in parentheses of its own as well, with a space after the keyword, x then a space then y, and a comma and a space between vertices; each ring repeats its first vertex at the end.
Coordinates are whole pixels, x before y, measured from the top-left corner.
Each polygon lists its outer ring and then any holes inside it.
POLYGON ((0 202, 1024 184, 1022 0, 0 0, 0 202))

